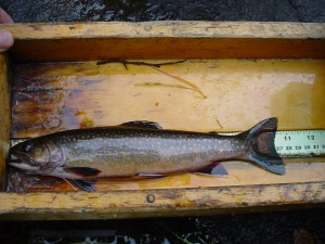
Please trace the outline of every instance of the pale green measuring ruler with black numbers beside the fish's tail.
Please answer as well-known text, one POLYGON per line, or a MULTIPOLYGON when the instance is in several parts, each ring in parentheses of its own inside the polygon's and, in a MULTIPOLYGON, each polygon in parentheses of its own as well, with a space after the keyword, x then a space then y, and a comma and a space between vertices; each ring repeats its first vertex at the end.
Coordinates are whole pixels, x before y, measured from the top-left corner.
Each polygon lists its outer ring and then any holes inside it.
POLYGON ((325 156, 325 130, 276 131, 275 149, 281 157, 325 156))

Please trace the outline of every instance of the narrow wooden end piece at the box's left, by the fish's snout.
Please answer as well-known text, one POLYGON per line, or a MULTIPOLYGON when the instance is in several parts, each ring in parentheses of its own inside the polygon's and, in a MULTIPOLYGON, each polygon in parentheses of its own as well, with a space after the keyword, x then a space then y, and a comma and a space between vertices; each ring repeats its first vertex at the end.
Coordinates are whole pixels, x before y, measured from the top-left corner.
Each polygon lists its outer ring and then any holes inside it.
POLYGON ((5 187, 5 158, 10 146, 11 88, 5 53, 0 53, 0 189, 5 187))

